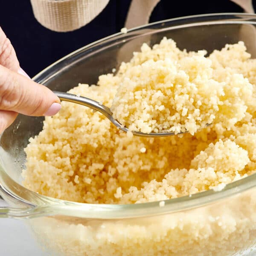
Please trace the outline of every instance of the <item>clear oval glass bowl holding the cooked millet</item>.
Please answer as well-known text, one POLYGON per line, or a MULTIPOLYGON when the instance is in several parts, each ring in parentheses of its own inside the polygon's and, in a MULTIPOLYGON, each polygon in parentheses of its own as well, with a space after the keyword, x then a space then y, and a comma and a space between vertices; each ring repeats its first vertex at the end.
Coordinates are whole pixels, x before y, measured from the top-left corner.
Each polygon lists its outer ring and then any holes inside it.
MULTIPOLYGON (((244 41, 256 57, 256 15, 214 14, 152 23, 104 38, 47 67, 34 80, 67 91, 93 84, 101 74, 129 61, 143 42, 164 36, 180 49, 221 49, 244 41)), ((10 207, 0 217, 26 219, 41 244, 61 255, 255 255, 256 175, 222 191, 134 205, 81 204, 38 195, 20 185, 29 137, 42 129, 41 117, 19 115, 0 136, 0 195, 10 207)))

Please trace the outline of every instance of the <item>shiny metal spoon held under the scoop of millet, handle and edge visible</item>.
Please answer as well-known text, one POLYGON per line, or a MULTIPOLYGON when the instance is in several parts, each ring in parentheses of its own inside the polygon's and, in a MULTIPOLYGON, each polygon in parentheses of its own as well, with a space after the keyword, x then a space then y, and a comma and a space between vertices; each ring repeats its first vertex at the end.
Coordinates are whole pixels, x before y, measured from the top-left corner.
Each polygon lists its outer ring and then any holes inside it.
MULTIPOLYGON (((83 96, 77 96, 71 93, 62 93, 62 92, 56 92, 56 91, 54 91, 54 93, 60 98, 61 101, 73 102, 76 104, 84 105, 88 108, 92 108, 96 111, 99 111, 104 116, 106 116, 114 125, 116 125, 118 129, 125 132, 129 131, 128 128, 124 127, 116 119, 113 118, 110 108, 106 107, 105 105, 102 105, 93 99, 89 99, 83 96)), ((174 132, 159 132, 159 133, 154 133, 154 132, 143 133, 140 131, 131 131, 131 132, 135 136, 140 136, 140 137, 165 137, 165 136, 177 135, 174 132)), ((183 134, 183 132, 180 132, 179 134, 183 134)))

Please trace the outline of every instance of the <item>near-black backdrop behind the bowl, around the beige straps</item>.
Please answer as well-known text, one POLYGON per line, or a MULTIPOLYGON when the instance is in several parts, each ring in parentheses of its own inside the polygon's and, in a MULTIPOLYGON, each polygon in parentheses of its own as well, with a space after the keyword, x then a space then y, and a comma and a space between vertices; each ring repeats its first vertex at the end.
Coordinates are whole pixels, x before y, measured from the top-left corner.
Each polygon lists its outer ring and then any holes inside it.
MULTIPOLYGON (((53 32, 38 23, 29 0, 1 1, 0 26, 11 40, 20 66, 32 77, 64 55, 119 32, 130 3, 131 0, 110 0, 106 8, 81 29, 53 32)), ((256 0, 253 5, 256 9, 256 0)), ((218 12, 243 12, 243 9, 230 0, 161 0, 150 22, 218 12)))

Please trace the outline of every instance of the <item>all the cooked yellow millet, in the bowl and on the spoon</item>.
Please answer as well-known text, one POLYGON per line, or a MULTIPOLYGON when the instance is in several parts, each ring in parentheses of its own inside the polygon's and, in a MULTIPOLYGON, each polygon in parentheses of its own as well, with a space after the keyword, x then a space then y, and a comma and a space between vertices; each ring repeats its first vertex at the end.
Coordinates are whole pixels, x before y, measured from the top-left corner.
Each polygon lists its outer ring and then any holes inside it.
MULTIPOLYGON (((116 116, 130 129, 148 132, 171 126, 191 134, 136 137, 117 130, 98 112, 62 102, 61 111, 46 117, 43 131, 29 140, 24 186, 70 201, 133 204, 218 190, 255 173, 256 60, 250 59, 243 42, 207 58, 205 53, 181 51, 163 38, 152 49, 143 44, 115 76, 100 76, 99 86, 79 84, 70 90, 108 107, 113 103, 116 116), (131 108, 134 116, 129 116, 131 108), (161 114, 154 116, 155 109, 161 114), (212 125, 198 130, 207 123, 212 125)), ((249 241, 252 228, 250 217, 242 218, 236 209, 244 209, 247 216, 253 200, 245 195, 237 204, 195 209, 193 214, 156 216, 142 223, 99 221, 99 227, 47 218, 49 226, 37 228, 69 255, 231 255, 238 244, 249 241), (219 220, 215 208, 221 209, 219 220), (56 224, 60 228, 55 230, 56 224), (61 235, 62 227, 72 236, 61 235)))

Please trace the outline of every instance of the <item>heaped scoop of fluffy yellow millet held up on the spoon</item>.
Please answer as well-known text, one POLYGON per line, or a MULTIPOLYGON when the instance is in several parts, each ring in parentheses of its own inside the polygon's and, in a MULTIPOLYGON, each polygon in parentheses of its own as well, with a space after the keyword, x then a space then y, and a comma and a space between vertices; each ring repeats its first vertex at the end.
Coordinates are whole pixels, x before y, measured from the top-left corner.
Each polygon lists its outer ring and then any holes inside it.
POLYGON ((180 52, 177 59, 150 59, 122 67, 113 117, 131 131, 144 133, 188 131, 193 135, 220 121, 230 128, 244 117, 252 85, 239 74, 217 81, 205 54, 180 52))

